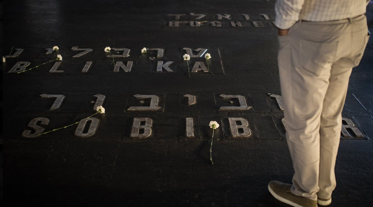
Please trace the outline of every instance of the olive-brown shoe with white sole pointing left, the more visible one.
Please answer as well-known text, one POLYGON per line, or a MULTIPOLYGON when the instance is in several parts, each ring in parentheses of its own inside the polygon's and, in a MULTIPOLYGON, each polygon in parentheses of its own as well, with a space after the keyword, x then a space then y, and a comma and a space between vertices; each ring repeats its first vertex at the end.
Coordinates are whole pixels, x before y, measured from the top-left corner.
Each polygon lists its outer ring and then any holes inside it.
POLYGON ((294 207, 317 207, 317 201, 292 194, 291 185, 279 181, 271 181, 268 184, 269 192, 277 200, 294 207))

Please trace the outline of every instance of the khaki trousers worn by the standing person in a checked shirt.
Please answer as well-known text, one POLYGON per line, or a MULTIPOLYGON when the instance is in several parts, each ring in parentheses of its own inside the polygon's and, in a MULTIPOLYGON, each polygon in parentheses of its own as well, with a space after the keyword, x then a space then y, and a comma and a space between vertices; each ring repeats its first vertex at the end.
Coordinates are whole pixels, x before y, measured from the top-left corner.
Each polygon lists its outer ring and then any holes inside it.
POLYGON ((365 15, 328 22, 297 22, 279 36, 278 54, 286 140, 293 161, 292 193, 328 199, 342 109, 352 67, 369 36, 365 15))

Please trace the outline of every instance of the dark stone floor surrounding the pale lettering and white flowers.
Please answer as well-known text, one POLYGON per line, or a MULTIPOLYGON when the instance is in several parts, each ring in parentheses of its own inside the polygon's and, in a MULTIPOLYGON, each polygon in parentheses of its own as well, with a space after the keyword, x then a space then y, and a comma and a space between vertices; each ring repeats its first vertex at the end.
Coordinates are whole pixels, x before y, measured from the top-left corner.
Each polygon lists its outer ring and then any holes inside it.
MULTIPOLYGON (((246 1, 4 1, 3 56, 3 204, 5 206, 286 206, 267 190, 271 180, 290 182, 293 169, 281 124, 283 113, 268 93, 280 94, 278 43, 273 0, 246 1), (194 14, 194 15, 191 15, 194 14), (173 15, 169 15, 173 14, 173 15), (175 14, 181 14, 176 19, 175 14), (201 14, 206 16, 202 17, 201 14), (219 15, 217 15, 219 14, 219 15), (248 16, 245 16, 245 15, 248 16), (231 15, 228 17, 228 15, 231 15), (247 19, 249 17, 250 19, 247 19), (200 19, 196 19, 200 18, 200 19), (221 19, 219 19, 221 18, 221 19), (230 19, 229 19, 230 18, 230 19), (179 26, 175 26, 177 23, 179 26), (171 22, 171 23, 170 23, 171 22), (198 26, 198 23, 200 26, 198 26), (239 26, 241 24, 241 26, 239 26), (171 26, 170 26, 171 25, 171 26), (192 25, 192 26, 191 26, 192 25), (220 25, 220 26, 218 26, 220 25), (59 46, 63 61, 24 73, 9 73, 19 61, 28 68, 56 58, 46 48, 59 46), (92 48, 82 56, 71 48, 92 48), (113 72, 104 48, 129 48, 115 61, 130 72, 113 72), (163 48, 164 56, 141 54, 163 48), (183 48, 206 48, 213 73, 188 78, 183 48), (13 48, 13 49, 12 49, 13 48), (87 73, 81 70, 93 62, 87 73), (174 72, 156 72, 157 62, 172 61, 174 72), (59 109, 50 110, 62 94, 59 109), (93 96, 106 96, 105 114, 95 135, 77 137, 76 125, 36 138, 24 138, 30 120, 47 117, 47 130, 92 115, 93 96), (135 94, 157 95, 162 109, 130 112, 140 104, 135 94), (197 104, 187 106, 183 95, 197 104), (242 95, 247 111, 219 110, 229 103, 220 94, 242 95), (131 138, 134 117, 153 120, 153 134, 131 138), (192 117, 195 137, 185 137, 185 118, 192 117), (253 135, 232 138, 228 117, 248 120, 253 135), (216 120, 209 160, 208 124, 216 120), (4 143, 4 144, 3 144, 4 143)), ((373 32, 373 3, 367 7, 373 32)), ((120 51, 122 53, 122 51, 120 51)), ((196 54, 194 52, 193 54, 196 54)), ((118 53, 119 54, 119 53, 118 53)), ((373 203, 373 40, 351 75, 343 117, 363 137, 342 137, 336 163, 337 187, 331 207, 373 203)), ((192 58, 190 67, 203 58, 192 58)), ((206 63, 206 62, 205 62, 206 63)), ((163 70, 164 71, 164 70, 163 70)))

